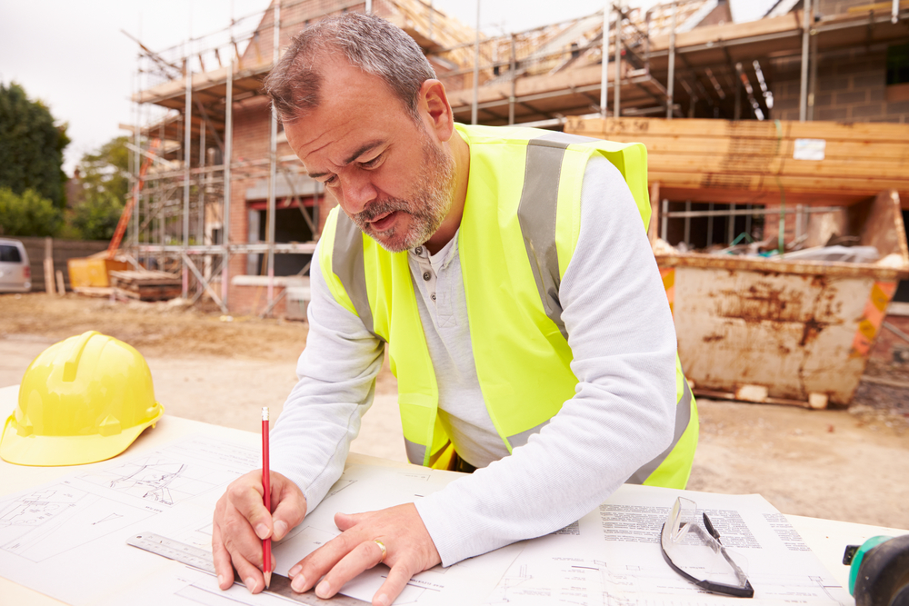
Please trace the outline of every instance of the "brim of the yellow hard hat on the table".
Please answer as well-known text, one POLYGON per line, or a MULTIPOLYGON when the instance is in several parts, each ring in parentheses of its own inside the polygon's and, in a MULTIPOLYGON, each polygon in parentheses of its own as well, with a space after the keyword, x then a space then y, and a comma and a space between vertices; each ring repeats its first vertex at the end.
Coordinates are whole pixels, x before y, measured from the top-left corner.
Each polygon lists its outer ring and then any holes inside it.
POLYGON ((124 452, 149 425, 154 425, 165 409, 155 402, 154 418, 135 427, 128 427, 116 435, 29 435, 20 436, 15 431, 15 413, 6 419, 0 437, 0 458, 15 465, 56 467, 58 465, 84 465, 111 459, 124 452))

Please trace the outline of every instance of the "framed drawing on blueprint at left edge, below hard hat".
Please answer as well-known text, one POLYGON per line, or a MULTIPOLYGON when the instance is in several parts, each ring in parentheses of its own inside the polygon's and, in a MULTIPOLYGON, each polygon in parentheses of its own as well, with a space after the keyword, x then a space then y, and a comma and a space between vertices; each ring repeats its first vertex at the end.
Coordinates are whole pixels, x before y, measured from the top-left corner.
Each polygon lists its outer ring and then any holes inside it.
POLYGON ((0 550, 43 561, 151 515, 62 482, 0 502, 0 550))

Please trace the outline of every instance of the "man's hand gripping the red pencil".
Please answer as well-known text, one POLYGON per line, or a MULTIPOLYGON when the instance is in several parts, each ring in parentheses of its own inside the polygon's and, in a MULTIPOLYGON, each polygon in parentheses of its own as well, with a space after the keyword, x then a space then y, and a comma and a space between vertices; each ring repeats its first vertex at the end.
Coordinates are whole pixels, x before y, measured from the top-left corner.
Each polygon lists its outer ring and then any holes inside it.
POLYGON ((218 586, 223 590, 234 584, 232 562, 249 591, 264 590, 262 540, 271 537, 280 541, 303 521, 306 499, 296 484, 271 472, 271 489, 274 512, 268 512, 262 503, 261 470, 231 482, 215 506, 212 556, 218 586))

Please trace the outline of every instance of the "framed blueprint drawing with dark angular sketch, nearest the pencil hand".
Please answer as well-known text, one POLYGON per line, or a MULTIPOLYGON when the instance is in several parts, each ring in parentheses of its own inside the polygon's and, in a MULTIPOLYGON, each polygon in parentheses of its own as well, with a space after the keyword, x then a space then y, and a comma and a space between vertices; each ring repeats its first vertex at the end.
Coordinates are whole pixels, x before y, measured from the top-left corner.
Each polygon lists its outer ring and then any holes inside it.
POLYGON ((234 476, 197 462, 179 462, 155 454, 116 467, 87 472, 79 478, 115 492, 172 507, 230 482, 234 476))

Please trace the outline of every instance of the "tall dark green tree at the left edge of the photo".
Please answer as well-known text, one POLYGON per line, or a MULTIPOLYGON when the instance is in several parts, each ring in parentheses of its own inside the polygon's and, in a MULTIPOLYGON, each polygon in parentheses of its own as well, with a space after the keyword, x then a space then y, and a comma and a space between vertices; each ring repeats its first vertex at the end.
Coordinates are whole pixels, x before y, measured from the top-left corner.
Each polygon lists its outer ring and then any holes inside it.
POLYGON ((66 124, 56 126, 45 104, 31 101, 19 84, 0 84, 0 187, 15 194, 31 189, 64 208, 69 142, 66 124))

